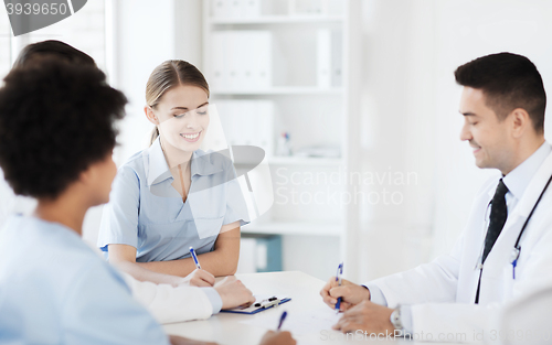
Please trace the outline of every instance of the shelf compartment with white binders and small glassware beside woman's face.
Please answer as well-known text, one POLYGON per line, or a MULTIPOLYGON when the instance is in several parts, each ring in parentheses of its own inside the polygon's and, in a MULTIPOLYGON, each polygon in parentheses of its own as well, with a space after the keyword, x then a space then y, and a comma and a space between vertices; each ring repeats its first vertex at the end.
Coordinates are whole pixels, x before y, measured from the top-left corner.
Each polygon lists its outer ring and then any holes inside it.
MULTIPOLYGON (((339 100, 318 96, 294 101, 213 97, 212 104, 230 145, 258 147, 270 165, 293 164, 311 170, 346 165, 342 152, 346 129, 339 100)), ((235 163, 258 164, 247 157, 235 158, 235 163)))

